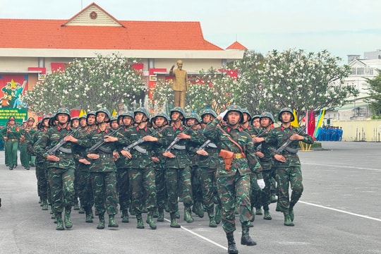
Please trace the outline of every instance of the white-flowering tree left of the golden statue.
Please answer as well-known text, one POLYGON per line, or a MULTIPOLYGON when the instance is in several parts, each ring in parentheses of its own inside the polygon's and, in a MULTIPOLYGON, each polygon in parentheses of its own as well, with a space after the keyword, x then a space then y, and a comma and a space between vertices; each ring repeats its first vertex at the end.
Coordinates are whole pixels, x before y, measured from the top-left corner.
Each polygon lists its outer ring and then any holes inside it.
POLYGON ((133 63, 137 61, 118 54, 77 59, 65 70, 46 75, 24 101, 37 114, 52 113, 59 107, 87 111, 101 107, 111 111, 123 104, 132 107, 146 89, 133 63))

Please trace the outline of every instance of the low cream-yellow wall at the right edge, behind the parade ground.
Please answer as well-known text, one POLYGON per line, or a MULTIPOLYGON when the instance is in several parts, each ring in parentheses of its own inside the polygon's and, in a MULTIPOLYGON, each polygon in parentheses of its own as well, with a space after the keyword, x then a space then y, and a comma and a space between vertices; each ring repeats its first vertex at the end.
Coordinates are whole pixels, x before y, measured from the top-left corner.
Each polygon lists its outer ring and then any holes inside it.
POLYGON ((333 121, 343 129, 342 141, 381 141, 381 120, 333 121))

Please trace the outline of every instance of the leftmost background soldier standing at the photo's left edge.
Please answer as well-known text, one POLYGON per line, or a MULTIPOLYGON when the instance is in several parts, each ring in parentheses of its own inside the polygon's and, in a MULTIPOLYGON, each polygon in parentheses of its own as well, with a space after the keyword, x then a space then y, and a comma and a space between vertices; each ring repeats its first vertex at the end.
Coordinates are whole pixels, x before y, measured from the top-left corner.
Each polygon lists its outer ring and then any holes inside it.
POLYGON ((5 164, 8 165, 9 170, 13 170, 17 167, 17 150, 18 140, 20 139, 20 128, 16 126, 16 119, 14 116, 10 116, 6 127, 0 131, 1 138, 4 138, 4 153, 5 164))

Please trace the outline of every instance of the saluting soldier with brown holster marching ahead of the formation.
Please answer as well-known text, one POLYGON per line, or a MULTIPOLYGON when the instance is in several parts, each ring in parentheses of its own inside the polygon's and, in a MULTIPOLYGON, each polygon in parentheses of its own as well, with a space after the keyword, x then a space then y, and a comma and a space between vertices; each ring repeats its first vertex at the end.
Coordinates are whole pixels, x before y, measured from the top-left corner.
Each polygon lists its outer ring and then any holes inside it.
POLYGON ((239 125, 242 121, 241 107, 232 105, 204 130, 205 137, 219 147, 220 156, 225 158, 221 162, 225 167, 219 167, 217 172, 217 190, 222 202, 222 228, 228 240, 228 253, 238 253, 234 241, 236 204, 242 226, 241 244, 256 245, 249 235, 250 219, 253 217, 250 211, 250 175, 255 174, 258 185, 264 187, 262 167, 255 157, 253 140, 239 125), (222 119, 227 126, 218 128, 222 119))

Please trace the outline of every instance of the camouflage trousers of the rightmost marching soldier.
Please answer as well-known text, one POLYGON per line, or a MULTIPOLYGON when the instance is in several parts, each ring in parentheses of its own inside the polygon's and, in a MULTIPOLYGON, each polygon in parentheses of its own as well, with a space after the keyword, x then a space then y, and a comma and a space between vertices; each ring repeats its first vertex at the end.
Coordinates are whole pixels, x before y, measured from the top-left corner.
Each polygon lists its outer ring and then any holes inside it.
POLYGON ((277 180, 278 202, 277 209, 287 210, 294 207, 303 193, 303 177, 301 167, 277 167, 275 169, 275 179, 277 180), (291 187, 291 200, 289 198, 289 187, 291 187))

